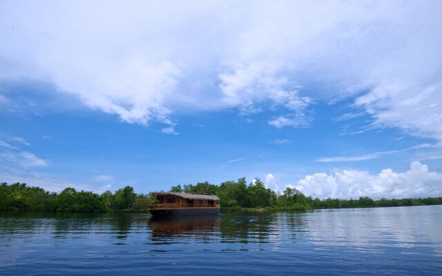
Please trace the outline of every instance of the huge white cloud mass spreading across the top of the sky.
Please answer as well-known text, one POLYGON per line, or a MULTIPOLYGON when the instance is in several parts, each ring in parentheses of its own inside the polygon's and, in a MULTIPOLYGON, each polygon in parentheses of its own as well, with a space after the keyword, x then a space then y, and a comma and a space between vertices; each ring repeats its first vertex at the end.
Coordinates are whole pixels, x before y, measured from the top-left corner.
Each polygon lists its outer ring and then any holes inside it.
POLYGON ((0 79, 55 83, 128 123, 267 108, 300 127, 312 98, 356 97, 376 127, 442 139, 441 1, 0 5, 0 79))

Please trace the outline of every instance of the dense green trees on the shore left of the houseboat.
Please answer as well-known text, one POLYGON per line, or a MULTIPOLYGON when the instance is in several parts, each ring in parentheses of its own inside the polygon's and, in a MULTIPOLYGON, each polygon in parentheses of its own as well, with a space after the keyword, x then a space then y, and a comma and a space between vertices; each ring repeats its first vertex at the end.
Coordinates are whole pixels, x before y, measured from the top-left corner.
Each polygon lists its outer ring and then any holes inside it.
POLYGON ((131 186, 102 195, 75 188, 66 188, 61 193, 50 193, 43 188, 27 184, 0 184, 0 210, 81 212, 108 211, 146 212, 152 198, 136 194, 131 186))

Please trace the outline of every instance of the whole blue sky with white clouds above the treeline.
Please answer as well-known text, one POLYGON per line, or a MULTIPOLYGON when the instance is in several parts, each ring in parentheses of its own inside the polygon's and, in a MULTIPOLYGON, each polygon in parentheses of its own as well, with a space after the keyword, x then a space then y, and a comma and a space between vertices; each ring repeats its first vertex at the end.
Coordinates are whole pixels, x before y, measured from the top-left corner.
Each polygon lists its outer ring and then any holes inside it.
POLYGON ((323 198, 442 195, 441 12, 4 1, 0 181, 148 193, 258 177, 323 198))

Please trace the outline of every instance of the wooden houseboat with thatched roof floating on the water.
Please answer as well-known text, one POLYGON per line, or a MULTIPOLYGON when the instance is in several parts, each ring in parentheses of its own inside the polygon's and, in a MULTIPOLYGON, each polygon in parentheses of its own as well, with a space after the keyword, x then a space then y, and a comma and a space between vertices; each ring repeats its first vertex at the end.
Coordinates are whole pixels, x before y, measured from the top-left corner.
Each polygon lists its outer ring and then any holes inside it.
POLYGON ((220 213, 220 198, 216 195, 201 195, 175 192, 152 192, 156 204, 148 206, 153 217, 186 215, 216 215, 220 213))

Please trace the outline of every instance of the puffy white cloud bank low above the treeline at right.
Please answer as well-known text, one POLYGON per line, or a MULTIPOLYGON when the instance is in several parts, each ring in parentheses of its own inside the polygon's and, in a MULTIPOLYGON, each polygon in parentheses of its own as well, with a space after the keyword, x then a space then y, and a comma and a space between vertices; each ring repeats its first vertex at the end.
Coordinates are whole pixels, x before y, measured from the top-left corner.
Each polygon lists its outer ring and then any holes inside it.
POLYGON ((430 172, 427 165, 414 161, 410 170, 394 172, 387 168, 378 175, 363 170, 343 170, 307 175, 294 186, 312 197, 340 199, 369 196, 373 198, 440 197, 442 173, 430 172))

